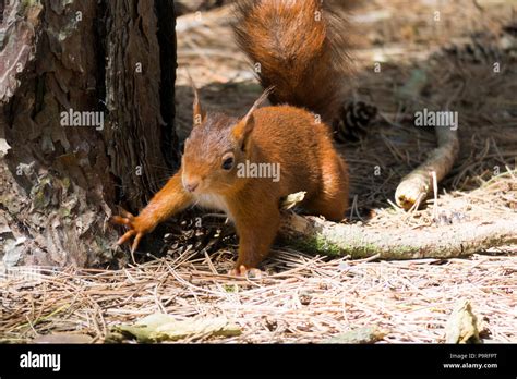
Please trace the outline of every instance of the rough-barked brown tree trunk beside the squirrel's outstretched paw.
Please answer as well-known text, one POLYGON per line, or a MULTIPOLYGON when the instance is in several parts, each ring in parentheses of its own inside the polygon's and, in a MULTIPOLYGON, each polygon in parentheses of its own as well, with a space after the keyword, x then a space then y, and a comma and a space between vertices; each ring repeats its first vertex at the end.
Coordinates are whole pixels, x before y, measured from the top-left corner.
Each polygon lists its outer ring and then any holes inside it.
POLYGON ((123 258, 115 255, 118 233, 107 222, 115 205, 142 208, 178 162, 173 14, 167 0, 5 3, 0 257, 7 266, 123 258))

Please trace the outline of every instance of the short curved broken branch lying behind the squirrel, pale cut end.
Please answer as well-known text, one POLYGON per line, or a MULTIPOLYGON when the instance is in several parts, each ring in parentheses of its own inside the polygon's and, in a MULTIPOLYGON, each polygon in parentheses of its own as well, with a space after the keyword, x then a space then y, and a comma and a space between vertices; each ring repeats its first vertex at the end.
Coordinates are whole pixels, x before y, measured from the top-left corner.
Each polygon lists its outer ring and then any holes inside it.
POLYGON ((397 205, 406 210, 413 206, 418 208, 430 194, 433 181, 431 172, 436 172, 436 180, 440 182, 450 171, 458 156, 457 131, 446 127, 436 127, 435 130, 438 147, 425 162, 401 180, 395 192, 397 205))

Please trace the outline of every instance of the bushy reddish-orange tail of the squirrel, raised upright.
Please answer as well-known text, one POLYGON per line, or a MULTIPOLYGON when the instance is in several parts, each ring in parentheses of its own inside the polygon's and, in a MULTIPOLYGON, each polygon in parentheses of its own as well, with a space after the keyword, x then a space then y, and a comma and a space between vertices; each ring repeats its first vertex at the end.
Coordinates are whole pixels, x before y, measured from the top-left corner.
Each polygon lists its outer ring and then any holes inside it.
POLYGON ((237 0, 236 17, 238 45, 263 87, 275 86, 269 100, 332 122, 350 72, 346 21, 322 0, 237 0))

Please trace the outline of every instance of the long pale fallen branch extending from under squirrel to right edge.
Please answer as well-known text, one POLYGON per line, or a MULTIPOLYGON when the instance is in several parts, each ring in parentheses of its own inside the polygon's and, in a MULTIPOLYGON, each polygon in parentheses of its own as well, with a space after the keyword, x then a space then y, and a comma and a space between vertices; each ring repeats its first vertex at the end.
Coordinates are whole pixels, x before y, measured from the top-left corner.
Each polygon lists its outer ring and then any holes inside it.
POLYGON ((447 227, 390 230, 347 225, 286 212, 280 236, 300 249, 380 259, 454 258, 517 243, 517 218, 447 227))

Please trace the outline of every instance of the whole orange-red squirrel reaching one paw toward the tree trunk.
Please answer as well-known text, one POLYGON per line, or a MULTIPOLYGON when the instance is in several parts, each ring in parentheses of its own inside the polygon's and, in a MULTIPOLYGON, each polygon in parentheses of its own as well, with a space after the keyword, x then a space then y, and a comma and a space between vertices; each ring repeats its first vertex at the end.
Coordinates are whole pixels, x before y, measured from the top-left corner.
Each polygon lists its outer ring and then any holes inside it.
POLYGON ((266 89, 248 113, 205 112, 195 86, 193 129, 179 171, 134 217, 112 218, 129 228, 118 244, 141 239, 182 209, 199 205, 226 212, 236 225, 239 255, 230 274, 255 270, 280 224, 280 198, 304 191, 301 206, 328 220, 345 218, 348 167, 325 122, 335 115, 347 72, 340 21, 321 0, 240 0, 237 42, 257 66, 266 89), (258 108, 269 98, 272 107, 258 108), (324 122, 322 122, 323 120, 324 122), (278 180, 239 174, 242 164, 279 167, 278 180))

